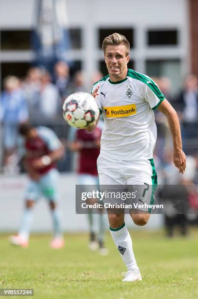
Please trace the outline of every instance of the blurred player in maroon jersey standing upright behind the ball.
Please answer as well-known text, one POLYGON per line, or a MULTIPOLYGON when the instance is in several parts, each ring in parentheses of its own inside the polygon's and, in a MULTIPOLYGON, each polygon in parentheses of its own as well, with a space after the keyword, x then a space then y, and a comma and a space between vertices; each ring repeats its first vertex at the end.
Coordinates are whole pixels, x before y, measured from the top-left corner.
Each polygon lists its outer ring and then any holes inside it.
MULTIPOLYGON (((99 178, 97 171, 97 159, 100 149, 100 137, 101 129, 96 127, 92 132, 87 132, 85 129, 71 128, 72 137, 69 141, 69 148, 73 151, 79 152, 79 164, 78 164, 78 183, 81 187, 81 192, 89 192, 90 186, 99 186, 99 178)), ((71 132, 70 132, 71 133, 71 132)), ((98 202, 97 199, 91 198, 87 203, 98 202)), ((108 250, 104 246, 104 214, 99 212, 99 236, 97 239, 94 230, 94 220, 96 215, 92 213, 90 209, 88 216, 89 228, 90 228, 90 243, 89 248, 91 250, 97 250, 101 255, 108 254, 108 250)))

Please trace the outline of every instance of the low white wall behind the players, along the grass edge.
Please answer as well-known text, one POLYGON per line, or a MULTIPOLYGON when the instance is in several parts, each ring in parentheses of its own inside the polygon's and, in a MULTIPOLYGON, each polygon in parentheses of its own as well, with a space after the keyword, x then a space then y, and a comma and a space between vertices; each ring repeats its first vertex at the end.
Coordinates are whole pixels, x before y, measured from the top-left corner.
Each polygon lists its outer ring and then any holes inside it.
MULTIPOLYGON (((0 176, 0 232, 17 232, 19 229, 26 181, 27 177, 25 175, 16 177, 0 176)), ((87 215, 76 214, 75 185, 76 176, 73 173, 61 174, 59 179, 59 207, 65 233, 88 231, 87 215)), ((95 217, 97 218, 98 215, 95 215, 95 217)), ((126 215, 126 223, 133 229, 159 229, 162 227, 162 218, 162 215, 153 215, 147 226, 139 228, 135 227, 130 216, 126 215)), ((106 229, 108 230, 107 215, 105 215, 105 219, 106 229)), ((41 199, 35 206, 32 231, 52 231, 52 219, 47 201, 44 199, 41 199)))

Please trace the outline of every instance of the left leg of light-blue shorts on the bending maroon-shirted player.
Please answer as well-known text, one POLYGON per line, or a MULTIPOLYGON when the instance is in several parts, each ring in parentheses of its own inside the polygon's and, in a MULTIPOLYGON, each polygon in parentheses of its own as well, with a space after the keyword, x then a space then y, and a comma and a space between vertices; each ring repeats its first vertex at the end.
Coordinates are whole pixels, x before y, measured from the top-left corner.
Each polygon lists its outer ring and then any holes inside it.
POLYGON ((25 201, 37 201, 41 195, 40 183, 39 181, 33 181, 28 179, 27 186, 24 192, 25 201))

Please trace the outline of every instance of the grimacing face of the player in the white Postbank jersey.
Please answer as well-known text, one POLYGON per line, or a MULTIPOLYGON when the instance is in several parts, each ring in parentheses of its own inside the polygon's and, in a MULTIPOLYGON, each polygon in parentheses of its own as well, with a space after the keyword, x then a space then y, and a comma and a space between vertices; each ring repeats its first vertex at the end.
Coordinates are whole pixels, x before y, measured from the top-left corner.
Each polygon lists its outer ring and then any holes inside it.
POLYGON ((104 60, 111 80, 120 81, 126 77, 129 58, 124 44, 106 47, 104 60))

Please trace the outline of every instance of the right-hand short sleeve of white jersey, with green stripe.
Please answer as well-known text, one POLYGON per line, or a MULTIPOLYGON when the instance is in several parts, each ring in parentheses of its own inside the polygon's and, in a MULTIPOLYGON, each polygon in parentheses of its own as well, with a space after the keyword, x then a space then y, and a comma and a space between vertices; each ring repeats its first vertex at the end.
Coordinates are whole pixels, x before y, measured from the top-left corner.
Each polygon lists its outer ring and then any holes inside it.
POLYGON ((164 98, 158 85, 152 79, 148 80, 145 85, 145 101, 149 103, 151 109, 155 110, 164 98))

